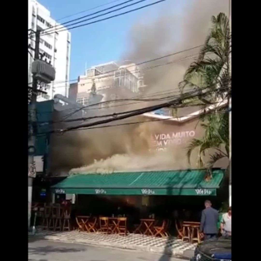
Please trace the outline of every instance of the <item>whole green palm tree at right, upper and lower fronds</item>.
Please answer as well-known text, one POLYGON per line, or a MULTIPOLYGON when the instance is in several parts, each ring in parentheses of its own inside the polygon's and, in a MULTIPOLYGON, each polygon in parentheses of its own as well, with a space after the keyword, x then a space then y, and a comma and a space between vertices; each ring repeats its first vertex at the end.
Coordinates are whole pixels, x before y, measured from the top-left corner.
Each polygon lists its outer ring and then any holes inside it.
MULTIPOLYGON (((190 162, 191 153, 198 148, 198 167, 206 167, 211 173, 213 165, 221 158, 229 157, 228 113, 223 113, 217 102, 227 99, 230 95, 231 75, 229 68, 230 28, 227 16, 220 13, 212 16, 212 27, 200 50, 197 61, 187 69, 180 83, 181 92, 185 87, 213 90, 208 96, 196 100, 203 107, 216 104, 210 114, 201 118, 201 126, 205 130, 202 139, 193 139, 187 146, 187 157, 190 162), (213 150, 210 160, 205 163, 206 152, 213 150)), ((189 103, 195 102, 189 101, 189 103)))

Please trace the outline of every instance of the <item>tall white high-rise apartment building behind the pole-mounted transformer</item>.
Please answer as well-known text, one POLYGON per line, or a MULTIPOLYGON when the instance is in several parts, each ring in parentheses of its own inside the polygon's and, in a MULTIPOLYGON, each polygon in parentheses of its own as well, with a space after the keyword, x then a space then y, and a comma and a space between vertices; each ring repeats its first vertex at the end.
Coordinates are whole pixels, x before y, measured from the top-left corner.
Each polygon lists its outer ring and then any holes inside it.
MULTIPOLYGON (((43 60, 50 62, 55 68, 55 80, 51 84, 45 85, 47 94, 40 94, 37 101, 45 101, 54 98, 55 94, 61 94, 68 97, 69 93, 69 70, 70 70, 70 48, 71 33, 68 30, 59 32, 65 27, 61 26, 51 18, 51 13, 43 5, 35 0, 28 0, 28 29, 36 31, 37 29, 46 30, 40 36, 40 54, 43 54, 43 60), (54 27, 54 28, 51 28, 54 27), (49 29, 51 28, 51 29, 49 29), (55 30, 54 30, 55 29, 55 30), (51 34, 46 34, 51 31, 51 34), (44 35, 45 34, 45 35, 44 35)), ((28 31, 30 34, 31 31, 28 31)), ((35 47, 35 34, 28 36, 28 45, 35 47)), ((28 49, 34 57, 34 51, 28 49)), ((31 86, 32 56, 28 53, 28 83, 31 86)))

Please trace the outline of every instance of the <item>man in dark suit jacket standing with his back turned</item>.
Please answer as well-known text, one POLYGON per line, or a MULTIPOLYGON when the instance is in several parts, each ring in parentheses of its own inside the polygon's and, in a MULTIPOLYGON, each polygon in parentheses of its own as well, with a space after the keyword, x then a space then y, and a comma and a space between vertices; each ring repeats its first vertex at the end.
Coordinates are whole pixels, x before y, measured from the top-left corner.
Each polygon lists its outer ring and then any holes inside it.
POLYGON ((201 214, 200 232, 204 233, 204 240, 216 238, 218 211, 211 207, 210 200, 205 201, 205 209, 201 214))

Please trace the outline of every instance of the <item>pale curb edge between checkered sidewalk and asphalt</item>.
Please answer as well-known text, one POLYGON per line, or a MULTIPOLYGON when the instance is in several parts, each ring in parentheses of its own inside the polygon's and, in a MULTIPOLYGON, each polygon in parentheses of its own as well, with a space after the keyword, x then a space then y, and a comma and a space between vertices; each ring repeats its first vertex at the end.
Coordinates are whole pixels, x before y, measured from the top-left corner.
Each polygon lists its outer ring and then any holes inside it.
MULTIPOLYGON (((124 249, 124 250, 139 250, 139 251, 146 251, 146 252, 152 252, 157 254, 165 254, 171 257, 176 257, 180 259, 184 259, 186 257, 183 256, 182 250, 171 250, 170 248, 159 248, 159 247, 149 247, 149 246, 133 246, 133 245, 120 245, 120 244, 114 244, 111 245, 109 242, 102 242, 97 241, 94 242, 93 240, 82 240, 82 239, 61 239, 58 236, 52 236, 52 235, 30 235, 30 237, 38 238, 38 239, 44 239, 44 240, 51 240, 51 241, 60 241, 63 243, 78 243, 83 245, 90 245, 90 246, 101 246, 101 247, 109 247, 109 248, 115 248, 115 249, 124 249)), ((186 258, 187 259, 187 258, 186 258)))

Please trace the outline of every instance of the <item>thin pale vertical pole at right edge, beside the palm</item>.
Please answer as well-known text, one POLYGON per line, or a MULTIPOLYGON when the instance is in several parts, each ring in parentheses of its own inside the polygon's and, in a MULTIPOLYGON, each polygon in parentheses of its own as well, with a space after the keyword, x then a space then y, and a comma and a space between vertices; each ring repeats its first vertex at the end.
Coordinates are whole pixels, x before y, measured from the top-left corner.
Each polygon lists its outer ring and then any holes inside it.
MULTIPOLYGON (((231 23, 231 0, 229 0, 229 27, 230 27, 230 37, 231 37, 231 32, 232 32, 232 23, 231 23)), ((231 45, 232 39, 230 39, 230 45, 231 45)), ((229 72, 230 72, 230 76, 232 76, 232 63, 231 63, 231 52, 230 52, 230 48, 229 48, 229 72)), ((229 195, 229 206, 232 205, 232 98, 231 96, 228 97, 229 98, 229 103, 228 103, 228 108, 229 108, 229 187, 228 187, 228 195, 229 195)))

